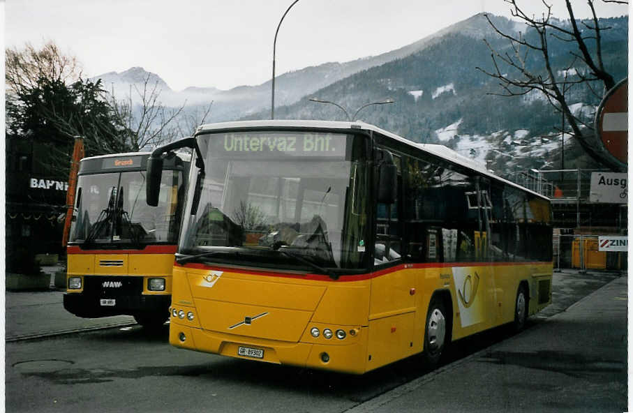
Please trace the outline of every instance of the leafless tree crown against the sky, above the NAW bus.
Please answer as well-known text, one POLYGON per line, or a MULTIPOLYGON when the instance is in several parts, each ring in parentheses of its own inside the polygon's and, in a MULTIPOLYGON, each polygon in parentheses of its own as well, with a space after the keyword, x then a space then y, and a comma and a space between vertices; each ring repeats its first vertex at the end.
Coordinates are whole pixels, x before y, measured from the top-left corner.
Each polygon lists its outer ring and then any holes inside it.
POLYGON ((161 89, 158 81, 149 82, 148 74, 142 87, 130 86, 130 93, 120 100, 114 94, 114 88, 108 98, 108 103, 114 111, 119 123, 124 126, 128 143, 133 150, 156 147, 180 137, 177 119, 184 109, 180 107, 166 107, 159 100, 161 89))

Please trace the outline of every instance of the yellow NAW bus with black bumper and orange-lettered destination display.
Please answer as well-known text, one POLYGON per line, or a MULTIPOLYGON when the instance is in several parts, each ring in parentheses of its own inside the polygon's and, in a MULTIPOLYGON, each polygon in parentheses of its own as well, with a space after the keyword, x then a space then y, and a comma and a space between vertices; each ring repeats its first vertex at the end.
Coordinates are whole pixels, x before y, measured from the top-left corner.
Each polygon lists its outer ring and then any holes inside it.
MULTIPOLYGON (((173 154, 172 154, 173 155, 173 154)), ((68 239, 64 308, 79 317, 169 318, 187 156, 165 160, 156 207, 145 201, 149 152, 84 158, 68 239)))

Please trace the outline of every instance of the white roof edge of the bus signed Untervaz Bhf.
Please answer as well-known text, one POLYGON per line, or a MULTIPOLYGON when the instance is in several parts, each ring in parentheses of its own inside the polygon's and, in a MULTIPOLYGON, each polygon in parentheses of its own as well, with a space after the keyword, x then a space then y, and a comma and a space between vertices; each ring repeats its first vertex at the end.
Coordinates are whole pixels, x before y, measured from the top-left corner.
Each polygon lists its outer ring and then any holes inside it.
POLYGON ((544 200, 549 200, 548 197, 534 192, 524 186, 520 186, 517 183, 498 177, 497 175, 486 170, 486 167, 474 160, 463 156, 449 147, 445 147, 440 144, 422 144, 419 142, 413 142, 404 137, 391 133, 387 130, 378 128, 378 126, 371 123, 365 123, 364 121, 313 121, 313 120, 285 120, 285 119, 269 119, 262 121, 232 121, 232 122, 220 122, 209 123, 206 125, 198 126, 196 134, 204 132, 212 132, 216 130, 228 130, 228 129, 258 129, 258 128, 315 128, 315 129, 332 129, 332 130, 370 130, 381 135, 391 137, 403 144, 406 144, 412 148, 419 149, 431 155, 438 156, 439 158, 449 160, 452 163, 467 167, 470 170, 475 170, 486 177, 501 181, 509 186, 514 186, 520 190, 531 193, 537 197, 541 197, 544 200))

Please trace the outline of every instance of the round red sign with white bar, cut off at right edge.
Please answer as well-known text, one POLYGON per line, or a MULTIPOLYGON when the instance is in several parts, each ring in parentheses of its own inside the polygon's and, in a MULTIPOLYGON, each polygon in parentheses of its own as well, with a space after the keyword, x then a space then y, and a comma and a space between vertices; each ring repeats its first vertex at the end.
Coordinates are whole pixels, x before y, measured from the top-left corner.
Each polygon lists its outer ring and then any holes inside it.
POLYGON ((616 84, 604 99, 596 114, 595 131, 611 156, 627 165, 628 150, 628 85, 627 79, 616 84))

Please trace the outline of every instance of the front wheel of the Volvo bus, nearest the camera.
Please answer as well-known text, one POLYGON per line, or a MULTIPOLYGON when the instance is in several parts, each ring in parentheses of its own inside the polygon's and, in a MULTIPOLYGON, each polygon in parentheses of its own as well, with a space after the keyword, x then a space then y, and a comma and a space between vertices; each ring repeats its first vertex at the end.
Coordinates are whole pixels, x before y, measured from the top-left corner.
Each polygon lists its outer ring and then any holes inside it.
POLYGON ((426 324, 424 324, 424 352, 422 359, 429 366, 435 366, 440 361, 442 351, 446 347, 448 325, 447 313, 444 301, 434 296, 429 303, 426 312, 426 324))

